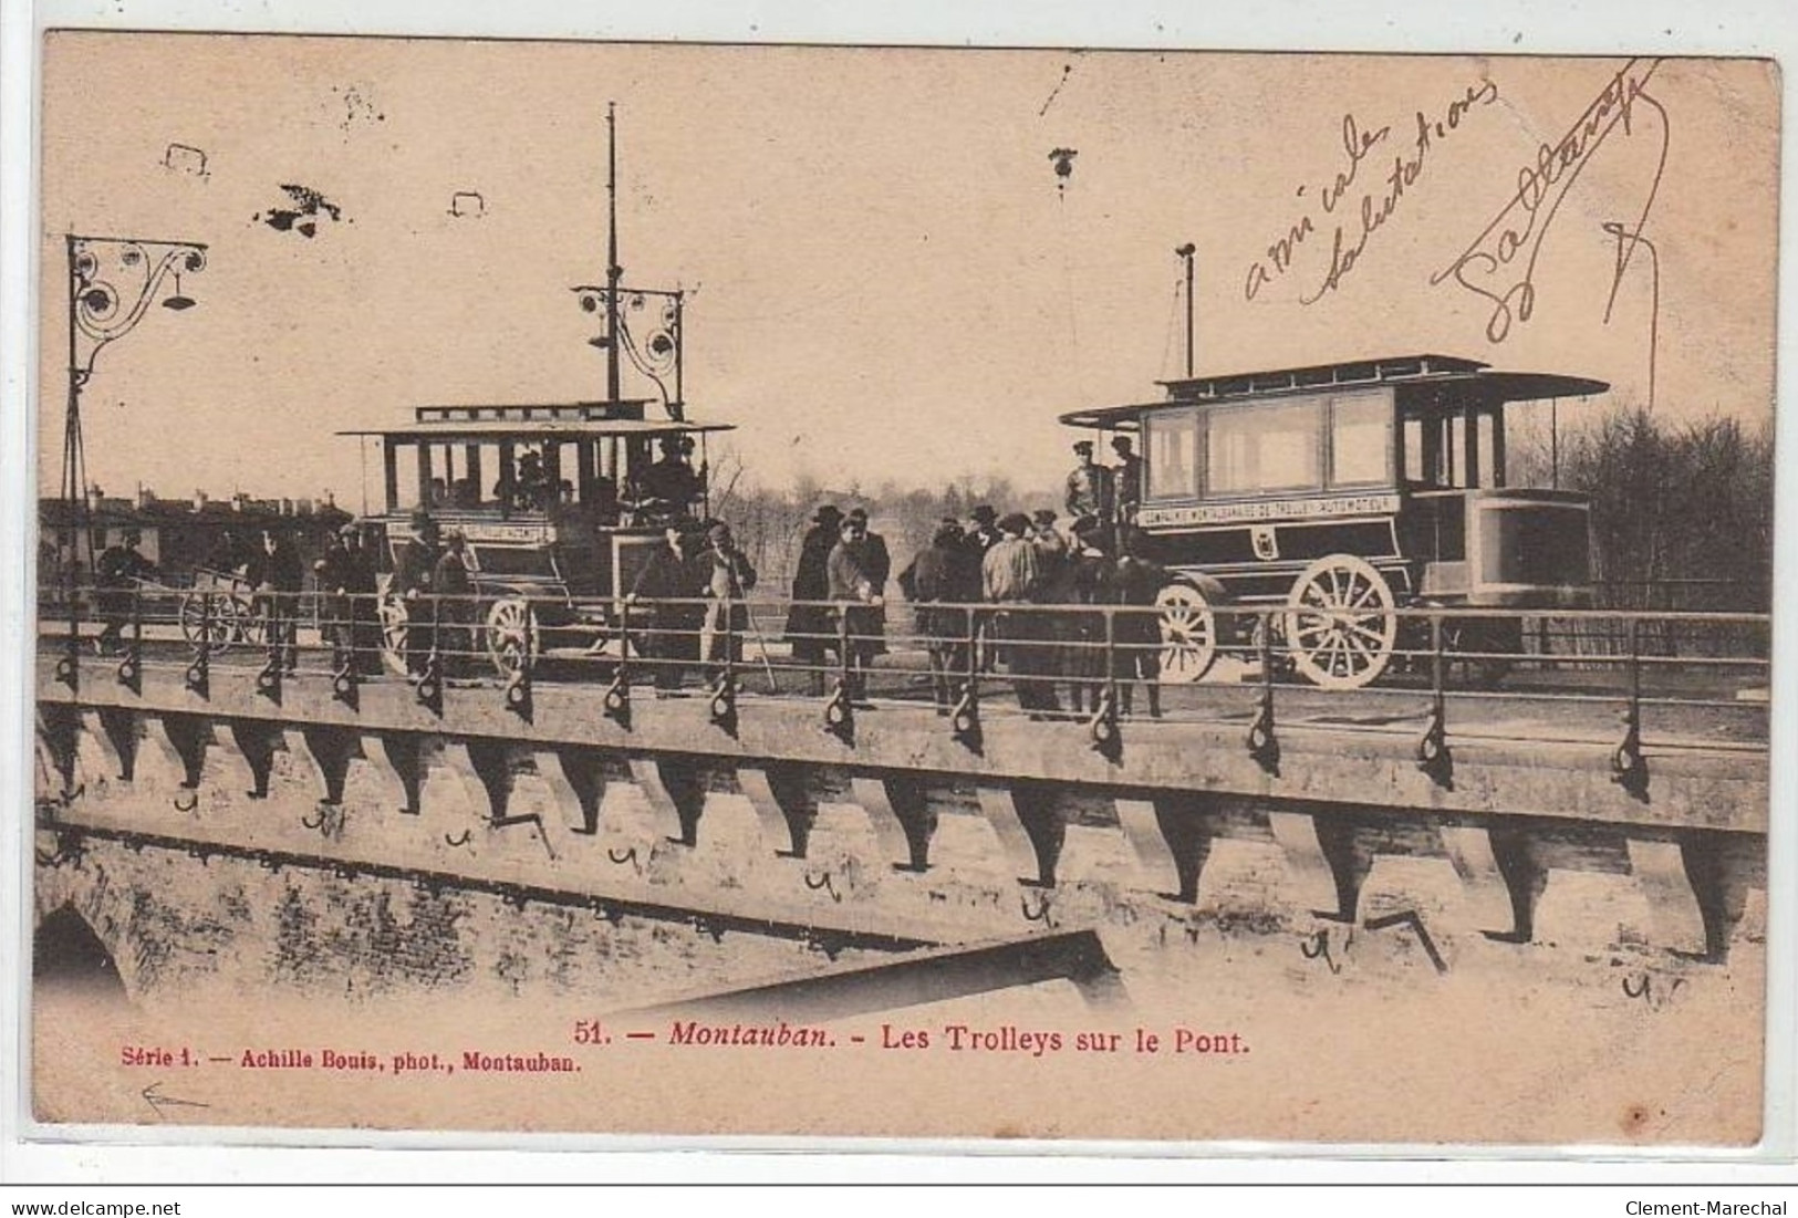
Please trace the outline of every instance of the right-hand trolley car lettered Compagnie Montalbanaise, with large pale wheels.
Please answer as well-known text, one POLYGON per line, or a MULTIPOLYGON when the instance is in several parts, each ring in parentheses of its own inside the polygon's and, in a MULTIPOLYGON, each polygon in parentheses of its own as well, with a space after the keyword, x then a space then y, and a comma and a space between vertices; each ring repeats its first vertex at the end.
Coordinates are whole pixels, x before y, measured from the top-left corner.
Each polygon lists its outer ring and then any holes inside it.
MULTIPOLYGON (((1163 681, 1212 668, 1221 604, 1284 604, 1282 654, 1327 688, 1386 672, 1397 607, 1591 604, 1589 503, 1509 485, 1505 408, 1609 384, 1447 356, 1162 384, 1061 422, 1140 437, 1138 548, 1172 573, 1163 681)), ((1516 616, 1451 623, 1458 650, 1521 647, 1516 616)))

